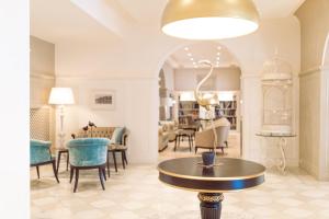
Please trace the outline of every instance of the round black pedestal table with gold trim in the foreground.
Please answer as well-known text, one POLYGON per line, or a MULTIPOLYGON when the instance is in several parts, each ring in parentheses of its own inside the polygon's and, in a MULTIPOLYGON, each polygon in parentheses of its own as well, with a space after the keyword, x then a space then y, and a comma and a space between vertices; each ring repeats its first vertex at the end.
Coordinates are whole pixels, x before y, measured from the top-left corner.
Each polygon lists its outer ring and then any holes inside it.
POLYGON ((264 182, 265 168, 232 158, 217 158, 214 168, 204 168, 201 158, 179 158, 158 165, 159 180, 172 187, 198 192, 202 219, 219 219, 223 193, 242 191, 264 182))

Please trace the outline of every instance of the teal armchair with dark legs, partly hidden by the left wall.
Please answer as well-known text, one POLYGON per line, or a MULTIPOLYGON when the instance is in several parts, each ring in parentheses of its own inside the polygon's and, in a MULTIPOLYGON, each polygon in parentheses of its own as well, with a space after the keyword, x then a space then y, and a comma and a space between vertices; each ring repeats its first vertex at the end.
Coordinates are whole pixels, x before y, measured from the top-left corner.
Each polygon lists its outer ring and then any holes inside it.
POLYGON ((53 164, 56 181, 59 183, 55 166, 55 158, 50 153, 50 141, 30 140, 30 166, 36 166, 37 177, 39 178, 39 165, 53 164))

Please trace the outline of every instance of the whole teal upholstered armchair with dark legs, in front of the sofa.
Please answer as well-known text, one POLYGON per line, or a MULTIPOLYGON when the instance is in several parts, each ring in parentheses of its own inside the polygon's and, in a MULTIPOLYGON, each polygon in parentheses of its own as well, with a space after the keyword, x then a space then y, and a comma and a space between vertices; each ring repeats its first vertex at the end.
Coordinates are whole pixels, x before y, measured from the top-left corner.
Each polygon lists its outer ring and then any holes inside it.
POLYGON ((105 164, 109 143, 110 140, 106 138, 77 138, 68 142, 70 182, 76 172, 75 193, 78 187, 79 170, 87 169, 99 169, 101 185, 105 189, 104 178, 106 180, 105 164))

